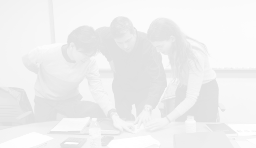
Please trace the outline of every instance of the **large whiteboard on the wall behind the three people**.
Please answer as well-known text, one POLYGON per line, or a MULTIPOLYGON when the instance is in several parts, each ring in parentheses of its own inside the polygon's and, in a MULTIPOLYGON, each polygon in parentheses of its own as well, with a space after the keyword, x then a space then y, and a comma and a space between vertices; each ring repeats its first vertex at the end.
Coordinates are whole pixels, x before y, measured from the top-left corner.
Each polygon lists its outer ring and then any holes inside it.
MULTIPOLYGON (((205 43, 212 67, 256 67, 254 0, 53 0, 53 13, 56 42, 66 42, 68 34, 81 25, 108 27, 117 16, 126 16, 142 32, 147 32, 154 19, 164 17, 205 43)), ((100 69, 110 68, 101 54, 96 59, 100 69)), ((165 68, 168 62, 163 56, 165 68)))

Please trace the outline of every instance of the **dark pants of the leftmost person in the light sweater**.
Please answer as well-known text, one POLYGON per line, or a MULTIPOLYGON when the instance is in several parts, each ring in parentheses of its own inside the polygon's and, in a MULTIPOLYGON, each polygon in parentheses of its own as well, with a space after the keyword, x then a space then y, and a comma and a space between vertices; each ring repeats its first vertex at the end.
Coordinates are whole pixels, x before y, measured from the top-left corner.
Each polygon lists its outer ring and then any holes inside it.
POLYGON ((97 103, 68 99, 54 101, 35 96, 35 119, 37 122, 56 120, 57 112, 68 118, 106 118, 97 103))

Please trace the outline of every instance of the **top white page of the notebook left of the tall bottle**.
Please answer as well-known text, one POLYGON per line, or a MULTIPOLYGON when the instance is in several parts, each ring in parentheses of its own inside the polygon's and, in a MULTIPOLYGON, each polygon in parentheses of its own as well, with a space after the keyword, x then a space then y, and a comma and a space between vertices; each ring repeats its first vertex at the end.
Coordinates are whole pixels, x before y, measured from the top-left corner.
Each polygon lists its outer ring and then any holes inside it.
POLYGON ((63 118, 51 131, 81 131, 90 120, 86 118, 63 118))

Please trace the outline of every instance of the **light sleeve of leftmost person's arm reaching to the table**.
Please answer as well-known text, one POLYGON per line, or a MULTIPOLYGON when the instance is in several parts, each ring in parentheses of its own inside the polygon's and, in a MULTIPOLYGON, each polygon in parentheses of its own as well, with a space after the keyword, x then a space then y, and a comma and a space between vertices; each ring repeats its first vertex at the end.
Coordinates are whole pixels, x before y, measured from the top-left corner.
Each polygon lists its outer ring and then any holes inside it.
POLYGON ((107 92, 104 90, 102 82, 100 80, 99 68, 94 58, 91 58, 92 62, 86 73, 88 80, 89 90, 92 97, 104 111, 105 115, 108 115, 110 109, 115 109, 114 103, 108 97, 107 92))

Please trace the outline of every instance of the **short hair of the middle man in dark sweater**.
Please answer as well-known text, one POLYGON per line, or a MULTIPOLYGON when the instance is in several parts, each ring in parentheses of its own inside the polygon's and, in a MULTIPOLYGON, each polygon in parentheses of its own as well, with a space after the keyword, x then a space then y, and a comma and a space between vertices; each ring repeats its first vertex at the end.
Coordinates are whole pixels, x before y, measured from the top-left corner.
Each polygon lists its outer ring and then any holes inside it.
POLYGON ((124 16, 118 16, 111 22, 110 31, 113 38, 121 38, 127 31, 133 34, 134 28, 130 19, 124 16))

